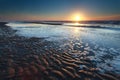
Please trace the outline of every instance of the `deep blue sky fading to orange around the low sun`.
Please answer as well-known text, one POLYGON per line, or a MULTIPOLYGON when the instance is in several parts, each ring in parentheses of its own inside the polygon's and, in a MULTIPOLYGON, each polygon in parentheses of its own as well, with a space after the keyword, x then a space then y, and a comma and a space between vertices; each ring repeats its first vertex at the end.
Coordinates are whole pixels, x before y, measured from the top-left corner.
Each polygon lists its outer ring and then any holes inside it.
POLYGON ((120 20, 120 0, 0 0, 0 21, 120 20))

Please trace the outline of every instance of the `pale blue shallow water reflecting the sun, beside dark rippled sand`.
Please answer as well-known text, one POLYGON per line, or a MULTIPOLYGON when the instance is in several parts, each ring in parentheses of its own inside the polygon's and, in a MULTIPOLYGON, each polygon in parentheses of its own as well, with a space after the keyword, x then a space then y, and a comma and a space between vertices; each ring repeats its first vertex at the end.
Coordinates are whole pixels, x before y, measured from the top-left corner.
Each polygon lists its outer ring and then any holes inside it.
POLYGON ((69 46, 80 54, 93 60, 101 72, 120 73, 120 25, 113 24, 81 24, 82 26, 100 26, 104 28, 74 27, 73 23, 63 25, 47 25, 35 23, 8 23, 16 34, 25 37, 44 37, 46 40, 58 42, 61 48, 69 46), (81 51, 83 46, 84 51, 81 51), (92 52, 92 56, 87 56, 92 52), (94 54, 94 55, 93 55, 94 54))

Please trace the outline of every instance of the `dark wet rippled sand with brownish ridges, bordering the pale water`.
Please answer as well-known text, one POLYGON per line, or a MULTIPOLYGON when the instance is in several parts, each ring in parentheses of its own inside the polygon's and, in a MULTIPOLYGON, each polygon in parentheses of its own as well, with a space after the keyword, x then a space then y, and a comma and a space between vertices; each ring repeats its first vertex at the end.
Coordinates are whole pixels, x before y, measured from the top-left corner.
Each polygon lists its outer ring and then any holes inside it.
POLYGON ((75 52, 57 50, 44 38, 15 35, 0 23, 0 80, 119 80, 120 75, 100 73, 93 62, 75 52))

